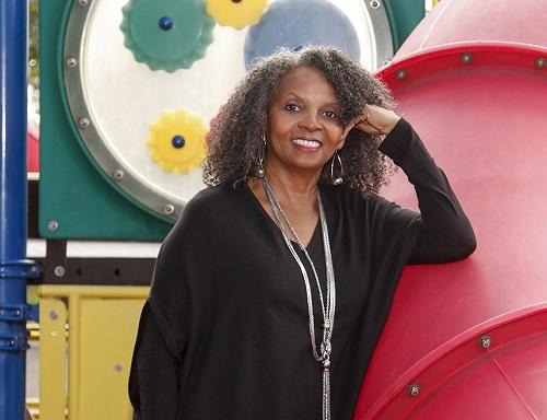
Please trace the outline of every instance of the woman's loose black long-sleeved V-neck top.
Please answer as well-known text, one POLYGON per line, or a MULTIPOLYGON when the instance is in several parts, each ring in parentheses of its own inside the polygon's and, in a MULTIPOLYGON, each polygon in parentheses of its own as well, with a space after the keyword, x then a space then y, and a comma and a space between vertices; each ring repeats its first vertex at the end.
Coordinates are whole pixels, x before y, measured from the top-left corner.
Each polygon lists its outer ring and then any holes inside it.
MULTIPOLYGON (((336 277, 334 420, 352 416, 403 267, 454 261, 476 246, 446 177, 408 122, 380 150, 415 185, 421 214, 319 186, 336 277)), ((325 288, 319 226, 307 249, 325 288)), ((162 245, 142 311, 129 380, 136 419, 321 419, 322 369, 307 323, 300 269, 253 192, 244 184, 199 192, 162 245)))

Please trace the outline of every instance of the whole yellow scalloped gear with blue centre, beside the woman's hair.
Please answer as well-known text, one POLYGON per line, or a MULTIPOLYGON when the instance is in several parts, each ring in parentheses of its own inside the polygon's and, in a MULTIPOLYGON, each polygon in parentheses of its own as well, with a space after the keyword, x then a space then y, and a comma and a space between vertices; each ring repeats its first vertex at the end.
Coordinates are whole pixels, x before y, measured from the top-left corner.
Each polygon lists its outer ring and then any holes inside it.
POLYGON ((147 144, 152 160, 167 172, 187 174, 205 159, 207 131, 201 117, 191 110, 162 113, 150 125, 147 144))

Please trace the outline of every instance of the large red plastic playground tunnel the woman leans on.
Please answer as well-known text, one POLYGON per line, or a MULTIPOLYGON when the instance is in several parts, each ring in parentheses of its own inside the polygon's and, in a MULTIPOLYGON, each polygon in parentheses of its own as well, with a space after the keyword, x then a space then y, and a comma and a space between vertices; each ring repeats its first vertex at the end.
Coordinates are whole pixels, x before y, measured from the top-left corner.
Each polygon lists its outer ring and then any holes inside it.
MULTIPOLYGON (((406 268, 356 420, 547 417, 546 10, 441 1, 379 72, 449 174, 478 249, 406 268)), ((386 194, 416 208, 401 179, 386 194)))

